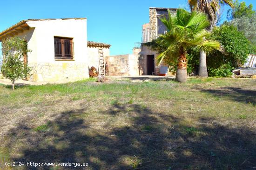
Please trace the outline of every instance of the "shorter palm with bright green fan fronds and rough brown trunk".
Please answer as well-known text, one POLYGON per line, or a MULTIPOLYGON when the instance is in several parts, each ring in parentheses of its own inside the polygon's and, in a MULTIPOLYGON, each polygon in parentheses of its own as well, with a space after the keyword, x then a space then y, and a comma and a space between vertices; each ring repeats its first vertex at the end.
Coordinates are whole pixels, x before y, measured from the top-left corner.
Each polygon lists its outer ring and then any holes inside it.
POLYGON ((205 39, 210 35, 210 32, 206 30, 209 26, 207 14, 198 11, 188 12, 184 9, 178 9, 176 13, 168 10, 168 17, 160 19, 168 31, 166 34, 160 35, 156 42, 163 51, 156 59, 160 64, 165 57, 172 61, 178 58, 176 81, 186 82, 187 80, 186 54, 188 47, 198 46, 208 53, 222 50, 219 42, 205 39))

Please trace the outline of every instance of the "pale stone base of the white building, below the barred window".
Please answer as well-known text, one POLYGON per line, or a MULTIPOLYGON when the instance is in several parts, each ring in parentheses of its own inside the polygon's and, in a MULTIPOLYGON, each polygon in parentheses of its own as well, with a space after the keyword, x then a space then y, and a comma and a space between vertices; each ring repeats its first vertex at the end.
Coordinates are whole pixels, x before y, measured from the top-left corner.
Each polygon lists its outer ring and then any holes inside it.
POLYGON ((31 63, 33 67, 29 81, 58 82, 77 81, 88 78, 88 64, 74 62, 60 63, 31 63))

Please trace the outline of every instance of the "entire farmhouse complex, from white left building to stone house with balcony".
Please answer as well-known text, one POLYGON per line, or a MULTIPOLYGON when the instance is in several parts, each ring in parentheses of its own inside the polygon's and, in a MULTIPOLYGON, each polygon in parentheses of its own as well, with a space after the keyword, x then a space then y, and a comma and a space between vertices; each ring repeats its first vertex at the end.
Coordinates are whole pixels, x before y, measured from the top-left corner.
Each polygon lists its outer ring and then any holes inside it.
MULTIPOLYGON (((149 8, 149 23, 142 25, 141 42, 135 43, 132 54, 110 56, 110 44, 87 40, 87 19, 28 19, 0 32, 0 41, 7 37, 25 38, 28 49, 24 62, 33 68, 33 82, 76 81, 89 77, 94 66, 108 76, 166 76, 168 64, 156 64, 157 51, 147 43, 167 31, 159 17, 170 8, 149 8)), ((176 9, 170 9, 175 11, 176 9)))

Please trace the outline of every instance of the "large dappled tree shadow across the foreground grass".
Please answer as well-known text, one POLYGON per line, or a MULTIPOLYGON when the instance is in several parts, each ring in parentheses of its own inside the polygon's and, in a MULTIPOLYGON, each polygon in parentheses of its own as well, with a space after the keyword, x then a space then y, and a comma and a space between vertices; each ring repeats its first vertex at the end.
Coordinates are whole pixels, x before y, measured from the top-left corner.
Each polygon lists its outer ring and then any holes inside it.
MULTIPOLYGON (((256 132, 231 128, 212 118, 200 118, 188 127, 182 119, 155 113, 137 104, 115 103, 103 116, 127 116, 129 126, 92 130, 87 109, 63 112, 45 126, 26 124, 10 130, 6 147, 15 148, 15 162, 88 163, 88 167, 61 170, 254 170, 256 132)), ((95 122, 96 124, 97 122, 95 122)), ((54 170, 53 167, 25 167, 54 170)))

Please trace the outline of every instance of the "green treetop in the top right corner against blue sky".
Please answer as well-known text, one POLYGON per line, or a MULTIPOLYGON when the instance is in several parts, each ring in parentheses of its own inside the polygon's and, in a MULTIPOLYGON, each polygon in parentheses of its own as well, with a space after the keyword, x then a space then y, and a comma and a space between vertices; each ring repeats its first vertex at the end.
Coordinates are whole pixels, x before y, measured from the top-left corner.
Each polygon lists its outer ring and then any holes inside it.
POLYGON ((239 3, 238 0, 234 3, 234 8, 228 10, 227 19, 230 21, 232 19, 239 19, 241 17, 253 17, 256 11, 253 10, 253 5, 250 4, 246 6, 245 2, 239 3))

